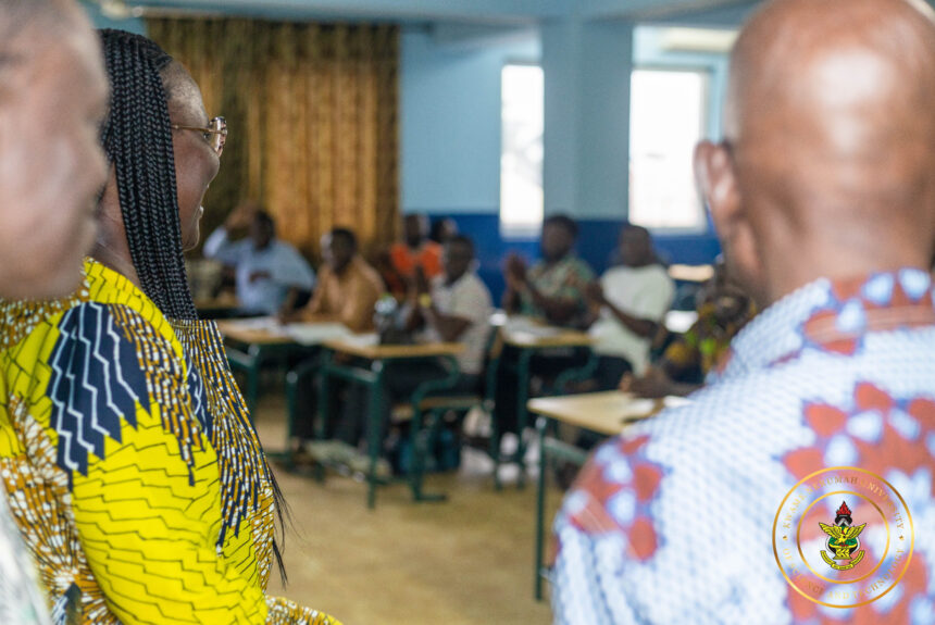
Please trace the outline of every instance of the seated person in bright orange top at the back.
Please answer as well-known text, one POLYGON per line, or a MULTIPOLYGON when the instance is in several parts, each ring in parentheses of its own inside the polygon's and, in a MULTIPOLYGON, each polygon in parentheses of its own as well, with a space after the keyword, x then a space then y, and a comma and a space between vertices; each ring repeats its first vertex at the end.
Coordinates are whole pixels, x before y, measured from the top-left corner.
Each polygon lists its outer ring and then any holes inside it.
POLYGON ((415 268, 429 279, 441 274, 441 246, 428 238, 428 217, 406 215, 402 220, 403 241, 394 243, 379 259, 379 271, 389 292, 402 301, 415 268))

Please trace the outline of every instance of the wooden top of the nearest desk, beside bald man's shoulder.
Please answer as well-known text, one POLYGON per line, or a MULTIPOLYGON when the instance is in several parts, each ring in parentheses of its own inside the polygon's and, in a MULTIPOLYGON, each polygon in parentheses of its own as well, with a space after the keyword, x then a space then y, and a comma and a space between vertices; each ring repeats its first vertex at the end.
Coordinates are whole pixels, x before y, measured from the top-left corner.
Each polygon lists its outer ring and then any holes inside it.
POLYGON ((684 405, 681 397, 641 399, 629 392, 611 390, 565 397, 544 397, 529 400, 529 412, 576 425, 591 432, 613 436, 633 422, 653 416, 664 408, 684 405))

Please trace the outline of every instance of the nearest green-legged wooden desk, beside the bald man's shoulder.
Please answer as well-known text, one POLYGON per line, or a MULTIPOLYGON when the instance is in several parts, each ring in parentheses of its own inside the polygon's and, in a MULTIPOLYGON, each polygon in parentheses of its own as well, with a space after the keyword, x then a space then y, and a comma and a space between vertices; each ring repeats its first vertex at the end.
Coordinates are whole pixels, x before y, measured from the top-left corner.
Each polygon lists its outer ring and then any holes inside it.
POLYGON ((536 421, 539 437, 535 538, 535 598, 537 601, 543 598, 543 578, 548 575, 548 571, 543 566, 548 457, 582 465, 588 455, 588 452, 583 449, 547 436, 549 423, 565 423, 604 436, 615 436, 633 423, 653 416, 665 408, 685 405, 687 402, 687 399, 681 397, 641 399, 633 393, 616 390, 529 401, 529 412, 540 415, 536 421))

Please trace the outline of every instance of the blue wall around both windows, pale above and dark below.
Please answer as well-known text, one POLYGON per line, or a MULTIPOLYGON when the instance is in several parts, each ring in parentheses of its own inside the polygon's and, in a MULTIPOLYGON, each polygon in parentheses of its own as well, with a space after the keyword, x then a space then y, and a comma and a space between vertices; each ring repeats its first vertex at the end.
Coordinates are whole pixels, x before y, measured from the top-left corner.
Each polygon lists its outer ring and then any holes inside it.
MULTIPOLYGON (((495 298, 503 290, 501 266, 508 253, 518 252, 531 260, 538 257, 537 240, 504 239, 500 234, 500 68, 509 61, 535 60, 539 53, 536 39, 452 47, 439 43, 424 28, 406 30, 402 38, 403 211, 427 213, 433 218, 452 217, 460 230, 474 239, 481 277, 495 298)), ((635 37, 636 63, 707 68, 712 73, 712 90, 721 91, 726 61, 706 57, 710 58, 666 55, 654 38, 635 37)), ((613 67, 611 60, 601 71, 613 67)), ((595 75, 589 80, 599 78, 595 75)), ((713 137, 720 134, 716 109, 719 100, 709 123, 713 137)), ((560 128, 559 136, 565 130, 560 128)), ((607 268, 616 246, 625 218, 623 201, 613 211, 607 207, 589 211, 587 203, 571 211, 581 225, 578 253, 598 273, 607 268)), ((547 205, 551 211, 569 208, 547 205)), ((707 263, 720 253, 710 228, 703 235, 658 235, 654 239, 670 262, 707 263)))

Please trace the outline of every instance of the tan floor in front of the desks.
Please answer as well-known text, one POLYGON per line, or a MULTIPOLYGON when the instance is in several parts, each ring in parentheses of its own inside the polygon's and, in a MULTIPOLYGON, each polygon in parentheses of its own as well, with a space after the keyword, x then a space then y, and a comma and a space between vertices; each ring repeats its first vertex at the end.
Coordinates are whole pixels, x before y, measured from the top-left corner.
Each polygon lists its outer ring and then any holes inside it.
MULTIPOLYGON (((284 446, 283 402, 269 395, 257 427, 267 451, 284 446)), ((495 492, 483 459, 431 476, 444 503, 413 503, 403 485, 381 489, 367 510, 365 487, 329 475, 324 485, 276 470, 291 507, 284 589, 269 591, 331 612, 346 625, 546 624, 533 600, 535 487, 495 492)), ((549 509, 558 505, 552 492, 549 509)))

